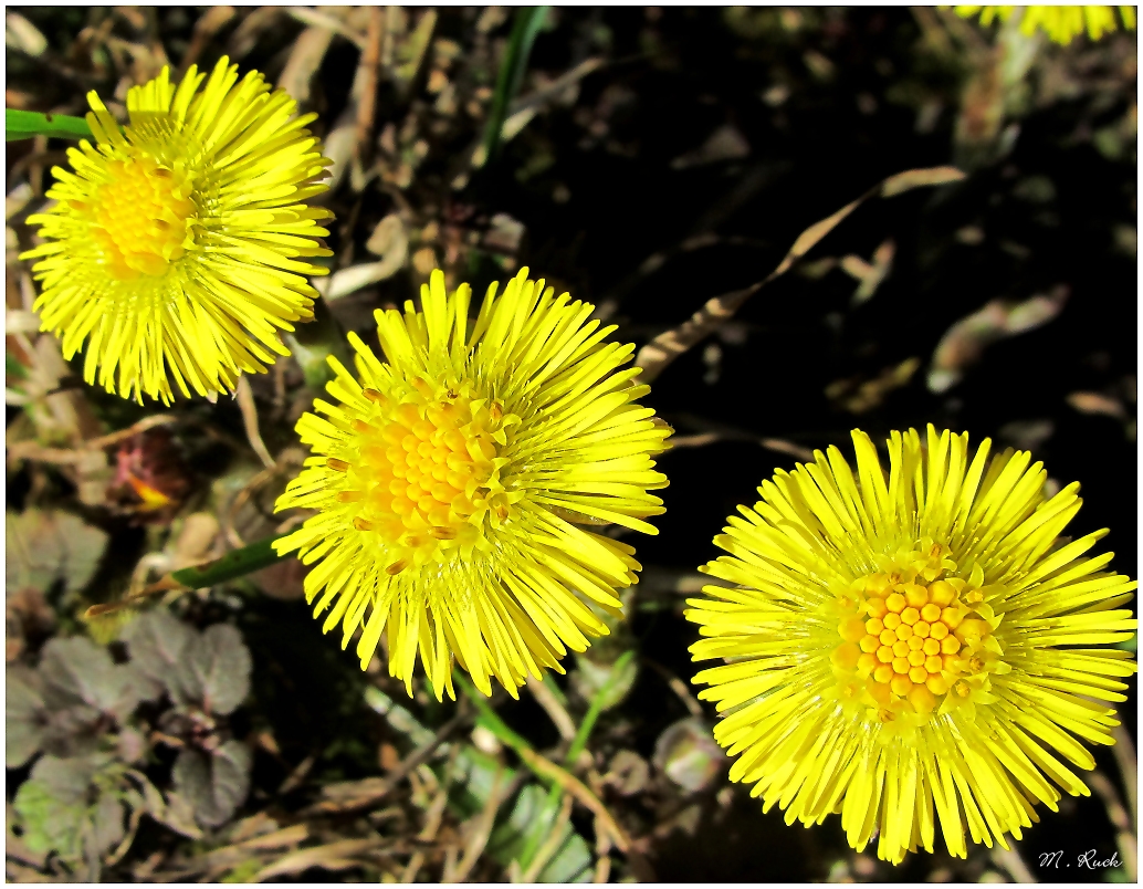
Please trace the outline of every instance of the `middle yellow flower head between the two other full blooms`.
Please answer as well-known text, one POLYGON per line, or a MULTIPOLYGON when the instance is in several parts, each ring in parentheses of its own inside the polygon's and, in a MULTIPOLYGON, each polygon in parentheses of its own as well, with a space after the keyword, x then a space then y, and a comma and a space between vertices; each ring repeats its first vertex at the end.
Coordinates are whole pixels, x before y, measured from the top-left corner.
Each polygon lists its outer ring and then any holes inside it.
POLYGON ((387 363, 359 337, 357 377, 315 400, 325 417, 298 421, 313 449, 279 510, 318 510, 275 544, 318 562, 305 582, 323 630, 358 627, 365 668, 389 627, 389 672, 411 694, 419 651, 438 698, 451 655, 486 695, 495 676, 514 697, 526 676, 559 672, 607 625, 588 602, 618 614, 636 582, 634 548, 578 524, 614 522, 647 534, 663 512, 653 454, 670 430, 637 399, 631 345, 589 321, 593 306, 555 296, 523 269, 477 320, 471 289, 447 296, 435 271, 422 311, 376 313, 387 363))

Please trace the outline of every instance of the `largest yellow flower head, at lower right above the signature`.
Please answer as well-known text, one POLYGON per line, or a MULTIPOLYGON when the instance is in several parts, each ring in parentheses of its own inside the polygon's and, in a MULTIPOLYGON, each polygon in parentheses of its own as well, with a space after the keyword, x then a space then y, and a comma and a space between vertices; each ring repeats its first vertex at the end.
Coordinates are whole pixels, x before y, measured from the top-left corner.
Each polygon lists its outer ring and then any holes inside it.
POLYGON ((1082 558, 1106 531, 1061 538, 1078 484, 1054 497, 1026 451, 989 460, 968 435, 894 432, 889 472, 863 432, 857 470, 841 452, 778 471, 714 538, 729 553, 703 569, 687 617, 704 639, 700 697, 725 719, 716 737, 785 820, 841 814, 850 844, 878 855, 1005 849, 1056 809, 1049 783, 1087 795, 1065 764, 1095 761, 1078 739, 1111 744, 1135 672, 1122 606, 1136 584, 1082 558), (1078 738, 1078 739, 1077 739, 1078 738))

